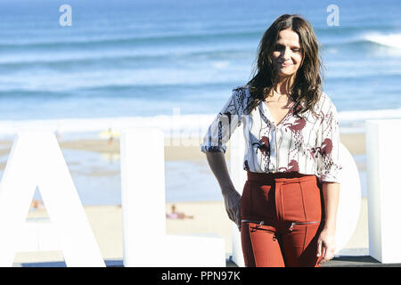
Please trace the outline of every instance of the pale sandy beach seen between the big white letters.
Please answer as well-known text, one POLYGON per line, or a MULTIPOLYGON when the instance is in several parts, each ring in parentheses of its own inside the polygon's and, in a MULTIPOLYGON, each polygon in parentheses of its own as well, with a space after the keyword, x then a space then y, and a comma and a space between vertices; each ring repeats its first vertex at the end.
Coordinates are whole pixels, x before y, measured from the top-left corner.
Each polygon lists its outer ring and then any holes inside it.
MULTIPOLYGON (((364 154, 364 134, 341 134, 341 142, 346 145, 352 154, 364 154)), ((204 159, 200 151, 201 139, 191 139, 176 142, 166 139, 165 159, 186 160, 204 159), (198 143, 199 142, 199 143, 198 143)), ((61 149, 94 151, 103 154, 119 154, 119 140, 112 143, 107 140, 81 140, 60 142, 61 149)), ((7 155, 11 150, 12 142, 0 142, 0 156, 7 155)), ((229 155, 229 151, 227 151, 229 155)), ((4 170, 5 162, 0 165, 4 170)), ((210 172, 210 175, 212 173, 210 172)), ((344 250, 368 248, 367 230, 367 203, 362 199, 359 223, 353 237, 348 241, 344 250)), ((225 239, 225 252, 228 256, 232 251, 231 231, 232 222, 225 214, 223 202, 220 201, 193 201, 193 202, 168 202, 167 212, 172 205, 178 212, 183 212, 192 218, 167 219, 168 234, 217 234, 225 239)), ((91 224, 95 239, 101 249, 104 259, 122 259, 122 220, 119 205, 86 206, 86 216, 91 224)), ((45 208, 37 208, 29 212, 28 218, 46 217, 45 208)), ((62 261, 61 252, 24 252, 15 256, 15 263, 62 261)))

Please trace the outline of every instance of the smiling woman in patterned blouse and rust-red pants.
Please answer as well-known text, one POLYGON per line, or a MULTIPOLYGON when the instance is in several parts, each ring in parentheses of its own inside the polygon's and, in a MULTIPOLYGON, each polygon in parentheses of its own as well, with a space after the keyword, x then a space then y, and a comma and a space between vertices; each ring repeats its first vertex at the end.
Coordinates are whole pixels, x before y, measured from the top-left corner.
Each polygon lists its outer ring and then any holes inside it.
POLYGON ((337 110, 322 91, 311 24, 284 14, 258 45, 253 77, 233 93, 201 143, 229 218, 241 231, 246 266, 320 266, 335 252, 340 194, 337 110), (242 196, 225 163, 243 126, 242 196))

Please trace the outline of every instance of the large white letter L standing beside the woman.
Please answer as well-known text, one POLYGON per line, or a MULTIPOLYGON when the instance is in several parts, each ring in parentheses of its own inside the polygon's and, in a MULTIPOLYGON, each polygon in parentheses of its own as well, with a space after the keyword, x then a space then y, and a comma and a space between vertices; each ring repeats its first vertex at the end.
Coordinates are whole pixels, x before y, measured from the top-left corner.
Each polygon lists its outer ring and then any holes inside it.
POLYGON ((164 134, 121 134, 124 266, 225 266, 223 239, 166 234, 164 134))

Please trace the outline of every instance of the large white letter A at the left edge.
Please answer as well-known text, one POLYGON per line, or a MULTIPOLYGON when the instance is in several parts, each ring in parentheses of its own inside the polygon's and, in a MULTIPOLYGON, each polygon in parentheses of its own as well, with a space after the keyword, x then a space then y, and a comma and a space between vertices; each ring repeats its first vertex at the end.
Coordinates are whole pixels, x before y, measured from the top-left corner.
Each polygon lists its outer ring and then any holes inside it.
POLYGON ((105 266, 101 252, 52 133, 20 133, 0 184, 0 266, 12 266, 16 237, 39 188, 68 266, 105 266))

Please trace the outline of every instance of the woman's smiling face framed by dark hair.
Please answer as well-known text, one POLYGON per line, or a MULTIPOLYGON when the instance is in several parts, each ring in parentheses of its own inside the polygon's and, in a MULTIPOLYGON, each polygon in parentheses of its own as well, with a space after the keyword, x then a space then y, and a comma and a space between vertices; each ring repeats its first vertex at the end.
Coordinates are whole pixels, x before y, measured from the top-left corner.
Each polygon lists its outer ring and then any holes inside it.
POLYGON ((297 73, 302 62, 299 36, 291 28, 279 32, 273 51, 274 65, 280 79, 297 73))

